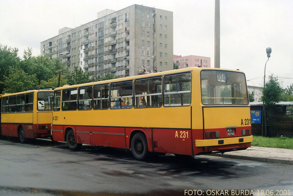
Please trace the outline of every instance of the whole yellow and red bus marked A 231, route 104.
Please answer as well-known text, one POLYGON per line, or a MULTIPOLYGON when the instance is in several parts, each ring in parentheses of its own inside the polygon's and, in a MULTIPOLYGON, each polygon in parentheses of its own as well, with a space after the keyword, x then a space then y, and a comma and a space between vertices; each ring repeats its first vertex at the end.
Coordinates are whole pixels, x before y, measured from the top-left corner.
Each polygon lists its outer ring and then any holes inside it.
POLYGON ((82 144, 199 155, 251 146, 245 74, 186 68, 54 89, 52 137, 82 144))

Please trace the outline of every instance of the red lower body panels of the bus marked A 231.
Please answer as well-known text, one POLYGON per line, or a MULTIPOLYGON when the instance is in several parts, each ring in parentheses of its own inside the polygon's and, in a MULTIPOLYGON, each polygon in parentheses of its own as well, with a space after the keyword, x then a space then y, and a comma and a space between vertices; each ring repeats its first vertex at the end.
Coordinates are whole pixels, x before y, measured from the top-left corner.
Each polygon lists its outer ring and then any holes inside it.
MULTIPOLYGON (((195 141, 208 141, 203 138, 202 129, 166 129, 166 128, 135 128, 135 127, 107 127, 107 126, 68 126, 53 125, 52 137, 54 141, 66 141, 66 135, 69 130, 74 131, 76 143, 108 146, 113 148, 130 149, 131 139, 137 132, 144 133, 147 138, 149 152, 171 153, 180 155, 197 155, 217 152, 228 152, 232 150, 242 150, 251 146, 250 142, 242 142, 241 138, 248 135, 242 135, 242 129, 250 129, 251 126, 237 127, 234 130, 234 136, 229 137, 225 128, 217 129, 221 134, 218 138, 240 138, 236 144, 200 146, 197 147, 195 141)), ((215 131, 215 130, 205 130, 215 131)), ((250 133, 251 134, 251 133, 250 133)), ((238 141, 238 139, 237 139, 238 141)))

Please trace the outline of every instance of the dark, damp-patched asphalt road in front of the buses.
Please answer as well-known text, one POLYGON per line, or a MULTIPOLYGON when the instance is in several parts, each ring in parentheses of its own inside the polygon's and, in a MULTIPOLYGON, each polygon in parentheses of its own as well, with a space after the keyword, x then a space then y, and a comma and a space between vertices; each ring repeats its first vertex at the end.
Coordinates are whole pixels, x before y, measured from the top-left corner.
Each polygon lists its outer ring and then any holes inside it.
POLYGON ((292 174, 291 164, 170 154, 140 162, 113 148, 85 145, 71 151, 62 142, 0 140, 0 195, 194 195, 185 190, 202 195, 249 190, 261 196, 261 190, 286 190, 293 195, 292 174))

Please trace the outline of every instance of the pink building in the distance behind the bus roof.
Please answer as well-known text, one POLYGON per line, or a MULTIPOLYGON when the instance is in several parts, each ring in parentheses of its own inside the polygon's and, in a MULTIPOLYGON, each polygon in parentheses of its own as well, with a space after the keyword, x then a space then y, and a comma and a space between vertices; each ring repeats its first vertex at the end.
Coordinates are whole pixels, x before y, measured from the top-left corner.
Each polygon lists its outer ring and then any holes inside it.
POLYGON ((186 67, 211 67, 211 58, 204 56, 178 56, 173 55, 173 60, 176 65, 179 66, 179 69, 186 67))

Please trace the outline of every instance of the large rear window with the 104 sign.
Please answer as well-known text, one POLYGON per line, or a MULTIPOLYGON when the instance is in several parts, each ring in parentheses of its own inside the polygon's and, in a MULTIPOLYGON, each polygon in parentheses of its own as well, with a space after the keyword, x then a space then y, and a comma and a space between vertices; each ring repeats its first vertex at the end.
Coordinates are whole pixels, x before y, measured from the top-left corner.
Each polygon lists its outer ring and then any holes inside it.
POLYGON ((248 105, 249 103, 243 73, 202 70, 200 80, 204 105, 248 105))

